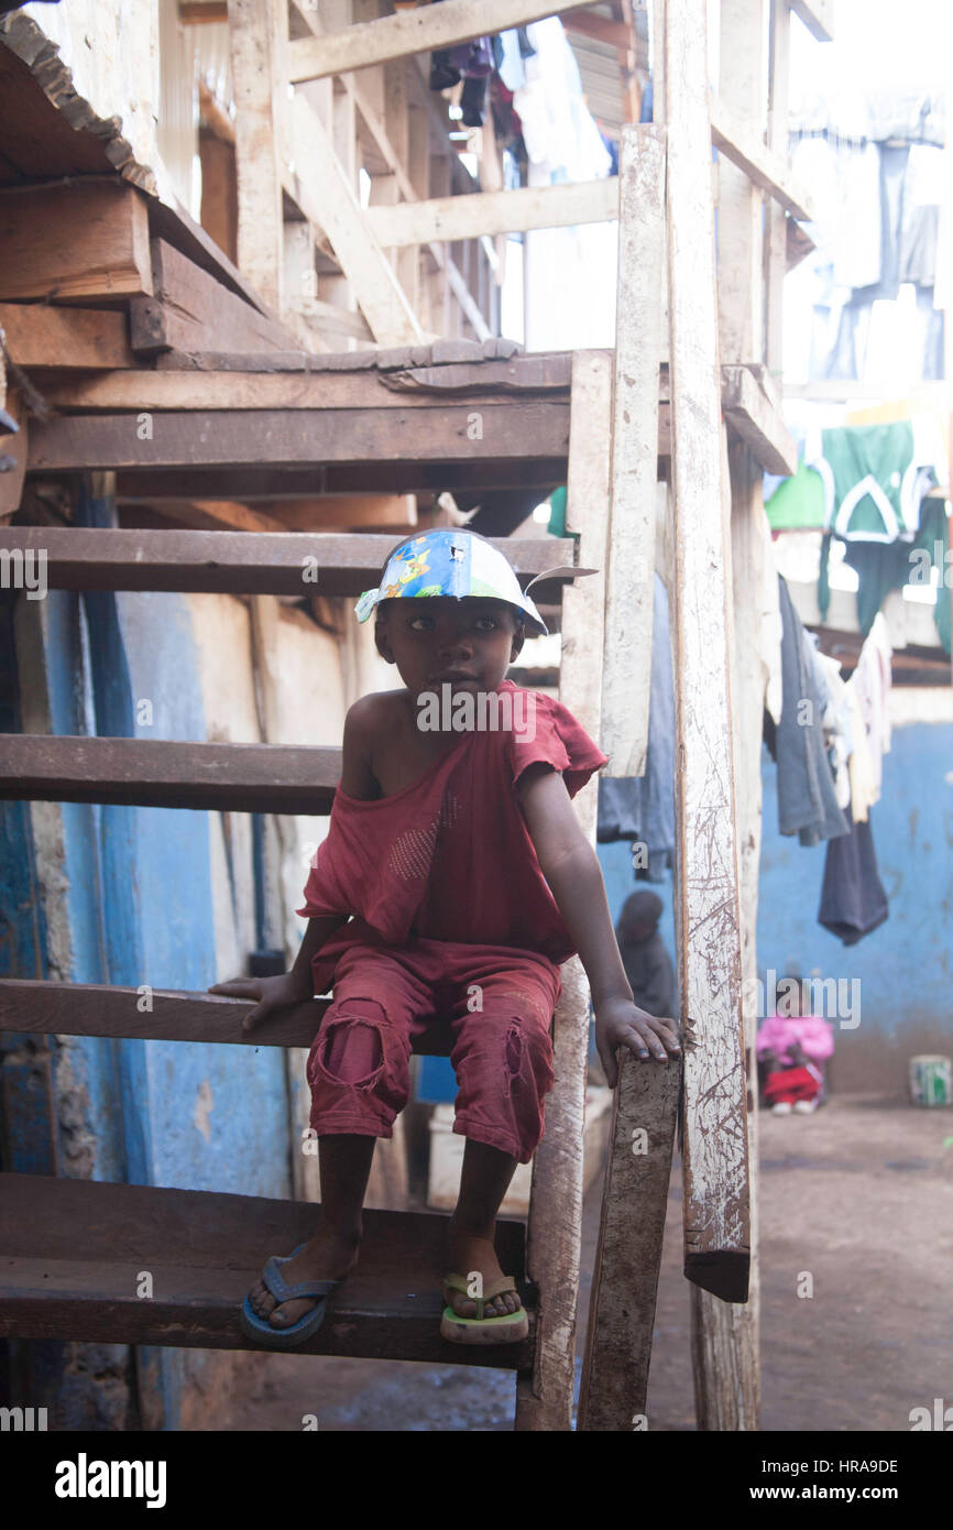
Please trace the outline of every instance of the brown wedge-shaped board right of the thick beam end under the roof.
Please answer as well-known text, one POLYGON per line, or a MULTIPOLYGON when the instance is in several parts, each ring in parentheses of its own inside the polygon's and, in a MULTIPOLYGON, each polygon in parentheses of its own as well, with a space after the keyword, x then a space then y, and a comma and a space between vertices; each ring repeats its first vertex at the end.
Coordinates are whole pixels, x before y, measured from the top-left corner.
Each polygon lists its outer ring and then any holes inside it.
MULTIPOLYGON (((295 335, 216 282, 164 239, 151 242, 153 297, 130 306, 133 350, 281 352, 295 335)), ((106 378, 101 381, 107 381, 106 378)))

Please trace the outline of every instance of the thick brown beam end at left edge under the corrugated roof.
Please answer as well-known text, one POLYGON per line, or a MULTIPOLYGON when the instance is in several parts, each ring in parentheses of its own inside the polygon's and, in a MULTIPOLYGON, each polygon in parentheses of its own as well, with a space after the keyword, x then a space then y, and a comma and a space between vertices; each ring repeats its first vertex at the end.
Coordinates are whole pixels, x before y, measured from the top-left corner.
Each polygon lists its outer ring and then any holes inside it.
POLYGON ((0 298, 151 292, 145 197, 96 181, 0 197, 0 298))

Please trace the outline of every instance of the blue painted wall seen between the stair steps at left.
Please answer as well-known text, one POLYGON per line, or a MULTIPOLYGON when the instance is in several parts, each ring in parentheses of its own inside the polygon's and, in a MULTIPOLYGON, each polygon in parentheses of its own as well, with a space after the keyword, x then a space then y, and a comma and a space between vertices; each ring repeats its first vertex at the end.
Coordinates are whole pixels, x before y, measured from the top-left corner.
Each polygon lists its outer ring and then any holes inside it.
MULTIPOLYGON (((76 519, 110 525, 113 509, 107 500, 86 499, 76 519)), ((184 598, 50 592, 46 621, 54 733, 207 737, 199 653, 184 598), (153 704, 151 725, 136 721, 142 699, 153 704)), ((12 659, 9 636, 8 629, 12 659)), ((18 727, 11 708, 8 698, 6 725, 18 727)), ((9 874, 0 884, 0 930, 9 930, 0 962, 5 975, 47 975, 35 920, 31 924, 23 913, 31 857, 21 805, 2 805, 0 832, 20 868, 15 886, 9 874)), ((63 832, 72 947, 66 981, 203 990, 223 976, 216 964, 210 814, 64 805, 63 832)), ((52 1094, 40 1099, 24 1079, 12 1091, 11 1112, 15 1121, 8 1125, 17 1126, 21 1143, 11 1167, 26 1172, 292 1193, 291 1111, 278 1048, 72 1039, 57 1057, 52 1094), (67 1112, 64 1088, 72 1091, 67 1112), (54 1161, 40 1151, 50 1128, 60 1132, 54 1161)), ((194 1372, 202 1356, 139 1351, 141 1377, 161 1395, 167 1429, 177 1427, 187 1365, 194 1372)), ((95 1391, 92 1375, 89 1388, 95 1391)))

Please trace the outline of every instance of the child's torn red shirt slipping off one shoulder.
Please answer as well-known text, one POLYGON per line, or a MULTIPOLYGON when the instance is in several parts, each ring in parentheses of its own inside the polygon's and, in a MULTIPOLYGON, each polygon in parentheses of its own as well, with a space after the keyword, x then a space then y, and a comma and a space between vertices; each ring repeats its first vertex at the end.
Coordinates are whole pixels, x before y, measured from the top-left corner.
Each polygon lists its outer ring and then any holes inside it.
POLYGON ((542 760, 575 796, 607 756, 561 702, 512 681, 503 681, 506 690, 514 702, 522 692, 512 728, 462 733, 392 797, 361 802, 338 786, 298 913, 353 918, 315 956, 315 993, 329 988, 338 958, 355 944, 424 938, 471 953, 506 946, 554 965, 574 955, 514 788, 542 760))

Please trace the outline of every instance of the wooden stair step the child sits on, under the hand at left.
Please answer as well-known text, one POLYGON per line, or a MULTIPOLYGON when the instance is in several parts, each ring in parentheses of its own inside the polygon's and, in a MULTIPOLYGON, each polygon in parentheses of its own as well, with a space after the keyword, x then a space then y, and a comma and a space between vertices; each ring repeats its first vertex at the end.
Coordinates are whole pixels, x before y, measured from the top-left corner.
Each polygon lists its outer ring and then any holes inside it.
MULTIPOLYGON (((139 1010, 139 988, 96 982, 0 979, 0 1031, 40 1036, 115 1036, 125 1040, 225 1042, 240 1047, 311 1047, 330 999, 311 999, 243 1031, 252 1004, 214 993, 151 988, 151 1010, 139 1010)), ((437 1017, 415 1042, 424 1057, 448 1057, 450 1019, 437 1017)))

